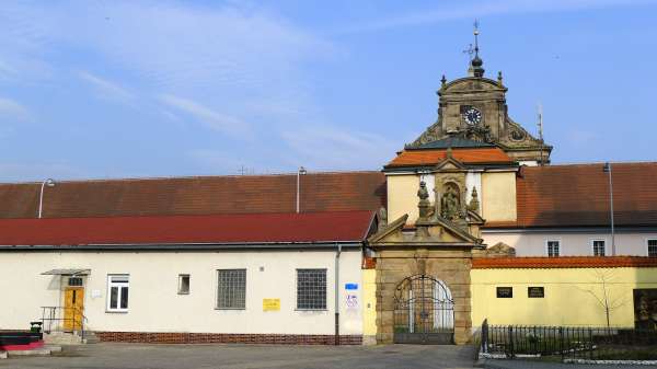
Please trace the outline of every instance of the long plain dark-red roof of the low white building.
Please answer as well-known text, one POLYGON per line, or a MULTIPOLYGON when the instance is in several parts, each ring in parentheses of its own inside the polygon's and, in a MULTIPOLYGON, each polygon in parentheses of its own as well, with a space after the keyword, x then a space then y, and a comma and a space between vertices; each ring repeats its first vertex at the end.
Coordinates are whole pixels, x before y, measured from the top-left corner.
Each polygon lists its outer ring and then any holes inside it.
POLYGON ((372 219, 372 211, 2 219, 0 245, 359 242, 372 219))

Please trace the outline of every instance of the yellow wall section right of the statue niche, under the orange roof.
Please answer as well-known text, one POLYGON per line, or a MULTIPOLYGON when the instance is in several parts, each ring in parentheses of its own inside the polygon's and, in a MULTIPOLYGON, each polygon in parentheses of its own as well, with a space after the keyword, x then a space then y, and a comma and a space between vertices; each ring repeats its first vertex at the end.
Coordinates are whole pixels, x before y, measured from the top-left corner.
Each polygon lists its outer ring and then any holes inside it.
POLYGON ((482 174, 482 212, 486 221, 516 220, 516 173, 482 174))

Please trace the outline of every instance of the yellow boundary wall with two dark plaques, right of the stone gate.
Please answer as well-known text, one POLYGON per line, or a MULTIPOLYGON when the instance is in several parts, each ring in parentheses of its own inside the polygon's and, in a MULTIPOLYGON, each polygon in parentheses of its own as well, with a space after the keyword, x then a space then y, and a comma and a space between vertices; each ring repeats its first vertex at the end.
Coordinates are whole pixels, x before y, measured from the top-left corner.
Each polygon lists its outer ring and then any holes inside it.
POLYGON ((657 288, 657 268, 472 269, 472 324, 604 326, 607 281, 612 326, 634 326, 633 289, 657 288), (544 298, 528 298, 527 287, 544 287, 544 298), (496 297, 496 287, 514 287, 514 297, 496 297), (595 296, 593 296, 595 295, 595 296))

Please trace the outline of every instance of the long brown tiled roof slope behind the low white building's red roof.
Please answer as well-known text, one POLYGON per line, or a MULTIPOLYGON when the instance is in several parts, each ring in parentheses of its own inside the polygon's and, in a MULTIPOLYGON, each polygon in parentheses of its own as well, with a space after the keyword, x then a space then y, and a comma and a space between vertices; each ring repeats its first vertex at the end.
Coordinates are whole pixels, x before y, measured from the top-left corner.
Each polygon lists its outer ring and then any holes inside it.
MULTIPOLYGON (((374 210, 385 204, 381 172, 301 176, 301 211, 374 210)), ((0 184, 0 218, 34 218, 41 183, 0 184)), ((296 211, 297 175, 59 182, 44 191, 45 218, 296 211)))

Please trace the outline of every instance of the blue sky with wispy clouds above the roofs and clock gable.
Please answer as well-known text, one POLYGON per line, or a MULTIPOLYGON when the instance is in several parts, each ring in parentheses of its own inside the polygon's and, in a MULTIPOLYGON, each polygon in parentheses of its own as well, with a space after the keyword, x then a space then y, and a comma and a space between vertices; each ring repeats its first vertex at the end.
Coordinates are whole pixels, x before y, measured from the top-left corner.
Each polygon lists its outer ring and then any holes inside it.
POLYGON ((4 1, 0 181, 378 170, 475 18, 554 163, 657 159, 657 1, 4 1))

